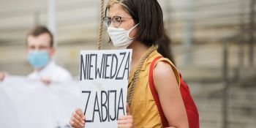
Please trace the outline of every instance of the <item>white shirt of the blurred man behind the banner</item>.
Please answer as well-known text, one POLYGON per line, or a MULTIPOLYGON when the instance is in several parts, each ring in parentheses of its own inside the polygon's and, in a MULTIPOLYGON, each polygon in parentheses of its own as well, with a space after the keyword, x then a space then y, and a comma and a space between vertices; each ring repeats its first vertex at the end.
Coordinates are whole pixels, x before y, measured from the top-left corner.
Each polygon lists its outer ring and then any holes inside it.
POLYGON ((50 78, 53 82, 64 82, 67 80, 72 80, 69 72, 56 65, 53 61, 50 61, 43 69, 31 72, 28 75, 29 79, 41 80, 41 78, 50 78))

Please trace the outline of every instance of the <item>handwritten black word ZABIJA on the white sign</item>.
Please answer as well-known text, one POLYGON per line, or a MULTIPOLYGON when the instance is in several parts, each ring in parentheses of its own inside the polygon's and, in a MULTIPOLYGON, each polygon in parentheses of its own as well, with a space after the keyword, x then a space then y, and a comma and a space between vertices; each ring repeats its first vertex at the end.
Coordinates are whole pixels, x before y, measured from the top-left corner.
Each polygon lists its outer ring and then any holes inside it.
POLYGON ((97 115, 99 116, 100 122, 116 121, 118 120, 119 115, 125 114, 124 113, 125 102, 124 102, 123 89, 99 91, 99 92, 96 91, 95 95, 93 95, 94 98, 90 98, 91 91, 82 91, 82 93, 87 94, 87 101, 86 101, 86 108, 84 111, 84 115, 86 115, 86 113, 92 113, 91 120, 86 118, 86 122, 94 122, 95 116, 97 115), (89 100, 91 102, 94 102, 93 111, 91 112, 87 110, 89 100))

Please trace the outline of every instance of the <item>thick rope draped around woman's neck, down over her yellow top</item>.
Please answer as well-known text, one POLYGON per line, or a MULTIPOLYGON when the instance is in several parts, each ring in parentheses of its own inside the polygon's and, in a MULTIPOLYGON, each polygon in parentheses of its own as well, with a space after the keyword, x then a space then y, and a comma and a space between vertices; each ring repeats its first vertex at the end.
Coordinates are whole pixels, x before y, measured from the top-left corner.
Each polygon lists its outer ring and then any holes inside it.
POLYGON ((131 101, 132 101, 132 96, 134 94, 134 90, 135 90, 135 84, 138 80, 138 75, 140 74, 140 69, 144 63, 144 61, 148 58, 148 56, 154 52, 154 50, 157 50, 158 46, 154 46, 154 47, 151 47, 142 57, 142 59, 140 59, 139 61, 139 64, 138 64, 138 67, 135 71, 135 74, 134 74, 134 77, 132 78, 132 83, 131 83, 131 91, 129 91, 129 94, 128 94, 128 104, 129 106, 131 106, 131 101))

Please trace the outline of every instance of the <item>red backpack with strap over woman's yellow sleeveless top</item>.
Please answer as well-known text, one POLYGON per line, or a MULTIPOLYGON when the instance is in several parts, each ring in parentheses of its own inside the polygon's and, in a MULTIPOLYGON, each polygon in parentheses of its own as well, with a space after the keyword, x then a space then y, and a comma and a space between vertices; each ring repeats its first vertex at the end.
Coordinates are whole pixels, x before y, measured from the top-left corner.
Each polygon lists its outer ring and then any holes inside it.
MULTIPOLYGON (((168 122, 167 119, 165 118, 164 112, 162 111, 162 107, 159 101, 159 97, 157 94, 156 89, 154 88, 154 79, 153 79, 153 69, 154 69, 154 65, 156 64, 157 60, 162 58, 162 56, 158 56, 157 58, 155 58, 151 65, 150 65, 150 69, 149 69, 149 86, 151 89, 151 93, 154 97, 154 101, 157 104, 157 109, 159 111, 159 114, 161 116, 161 120, 162 120, 162 126, 163 127, 169 127, 168 126, 168 122)), ((180 91, 181 91, 181 97, 183 99, 186 111, 187 111, 187 118, 189 120, 189 128, 199 128, 199 114, 197 111, 197 106, 195 105, 194 100, 192 99, 192 96, 189 92, 189 86, 187 86, 187 83, 185 83, 180 76, 180 91)))

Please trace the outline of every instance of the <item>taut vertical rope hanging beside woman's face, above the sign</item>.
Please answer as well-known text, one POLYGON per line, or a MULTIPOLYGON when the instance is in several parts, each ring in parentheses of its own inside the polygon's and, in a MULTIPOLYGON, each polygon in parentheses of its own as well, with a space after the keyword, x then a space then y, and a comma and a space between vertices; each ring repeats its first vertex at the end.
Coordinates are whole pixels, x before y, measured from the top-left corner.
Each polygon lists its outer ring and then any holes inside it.
POLYGON ((104 18, 104 0, 100 1, 100 23, 99 23, 99 34, 98 34, 98 43, 97 49, 102 49, 102 34, 103 34, 103 18, 104 18))

